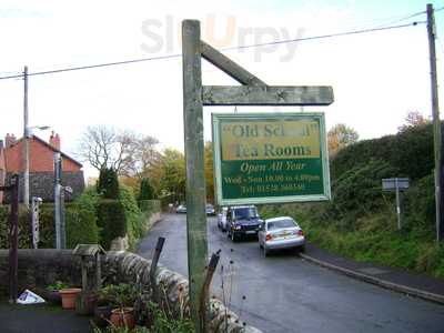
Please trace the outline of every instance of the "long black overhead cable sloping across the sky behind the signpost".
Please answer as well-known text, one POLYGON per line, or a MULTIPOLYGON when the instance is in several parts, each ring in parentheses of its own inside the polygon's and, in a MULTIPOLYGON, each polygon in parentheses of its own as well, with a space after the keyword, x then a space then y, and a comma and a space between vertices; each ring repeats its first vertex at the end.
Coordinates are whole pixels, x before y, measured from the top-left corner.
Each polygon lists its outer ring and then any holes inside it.
MULTIPOLYGON (((417 16, 417 14, 418 13, 415 13, 414 16, 417 16)), ((310 40, 329 39, 329 38, 351 36, 351 34, 370 33, 370 32, 376 32, 376 31, 385 31, 385 30, 402 29, 402 28, 407 28, 407 27, 415 27, 417 24, 423 24, 423 23, 426 23, 426 21, 420 21, 420 22, 415 21, 415 22, 410 22, 410 23, 398 24, 398 26, 369 28, 369 29, 352 30, 352 31, 339 32, 339 33, 330 33, 330 34, 305 37, 305 38, 280 40, 280 41, 273 41, 273 42, 266 42, 266 43, 240 46, 240 47, 221 49, 220 51, 243 50, 243 49, 251 49, 251 48, 261 48, 261 47, 265 47, 265 46, 276 46, 276 44, 284 44, 284 43, 292 43, 292 42, 300 42, 300 41, 310 41, 310 40)), ((39 72, 28 73, 28 77, 54 74, 54 73, 61 73, 61 72, 103 68, 103 67, 111 67, 111 65, 130 64, 130 63, 145 62, 145 61, 153 61, 153 60, 165 60, 165 59, 179 58, 181 56, 182 56, 181 53, 175 53, 175 54, 168 54, 168 56, 141 58, 141 59, 115 61, 115 62, 105 62, 105 63, 89 64, 89 65, 81 65, 81 67, 72 67, 72 68, 64 68, 64 69, 58 69, 58 70, 39 71, 39 72)), ((21 74, 14 74, 14 75, 0 77, 0 80, 17 79, 17 78, 22 78, 22 77, 23 77, 23 74, 21 73, 21 74)))

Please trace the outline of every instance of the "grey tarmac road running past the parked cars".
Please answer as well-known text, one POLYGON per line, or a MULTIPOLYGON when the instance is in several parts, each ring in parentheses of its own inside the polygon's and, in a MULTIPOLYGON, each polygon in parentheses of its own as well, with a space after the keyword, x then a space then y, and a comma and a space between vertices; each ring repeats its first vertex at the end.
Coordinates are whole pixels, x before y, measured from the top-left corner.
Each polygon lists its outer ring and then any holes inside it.
MULTIPOLYGON (((184 214, 163 215, 138 253, 151 259, 164 236, 161 264, 188 276, 185 223, 184 214)), ((222 249, 213 293, 222 299, 223 282, 225 303, 263 332, 444 332, 443 305, 350 279, 293 251, 264 258, 256 240, 231 242, 215 218, 209 244, 210 254, 222 249)))

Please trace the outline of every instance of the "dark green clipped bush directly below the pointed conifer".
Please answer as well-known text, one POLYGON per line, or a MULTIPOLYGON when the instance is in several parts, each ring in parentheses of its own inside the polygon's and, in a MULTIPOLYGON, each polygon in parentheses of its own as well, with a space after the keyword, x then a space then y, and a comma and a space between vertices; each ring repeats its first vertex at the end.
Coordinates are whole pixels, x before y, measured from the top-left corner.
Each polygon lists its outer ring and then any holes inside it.
POLYGON ((118 200, 103 199, 98 206, 98 226, 100 241, 104 249, 109 249, 115 238, 127 235, 127 215, 123 204, 118 200))

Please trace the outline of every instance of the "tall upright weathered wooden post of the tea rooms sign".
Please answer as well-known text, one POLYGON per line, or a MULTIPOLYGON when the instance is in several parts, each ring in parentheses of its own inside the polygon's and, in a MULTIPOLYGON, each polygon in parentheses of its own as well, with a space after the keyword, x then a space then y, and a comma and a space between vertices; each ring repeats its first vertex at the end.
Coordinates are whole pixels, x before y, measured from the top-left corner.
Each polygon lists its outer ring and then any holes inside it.
MULTIPOLYGON (((201 29, 199 21, 182 22, 183 118, 186 162, 186 235, 190 309, 196 333, 205 333, 206 311, 200 311, 208 265, 205 173, 203 142, 201 29)), ((205 300, 205 304, 209 300, 205 300)), ((206 310, 206 306, 205 306, 206 310)))

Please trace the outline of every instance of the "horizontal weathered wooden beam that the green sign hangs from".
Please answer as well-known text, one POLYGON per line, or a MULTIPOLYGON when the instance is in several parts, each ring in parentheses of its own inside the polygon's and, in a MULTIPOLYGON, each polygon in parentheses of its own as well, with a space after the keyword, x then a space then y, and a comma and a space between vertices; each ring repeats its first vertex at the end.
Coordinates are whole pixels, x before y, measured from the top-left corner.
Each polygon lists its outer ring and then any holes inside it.
POLYGON ((332 87, 205 85, 203 105, 330 105, 332 87))

